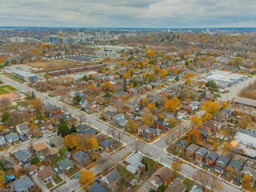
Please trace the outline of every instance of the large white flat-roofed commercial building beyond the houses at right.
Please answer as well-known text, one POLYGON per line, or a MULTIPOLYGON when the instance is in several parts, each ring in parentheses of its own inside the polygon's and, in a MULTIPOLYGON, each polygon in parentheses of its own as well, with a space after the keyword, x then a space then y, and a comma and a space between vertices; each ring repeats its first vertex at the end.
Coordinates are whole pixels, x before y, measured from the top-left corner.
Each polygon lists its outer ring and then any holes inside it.
POLYGON ((239 82, 242 79, 247 79, 246 75, 233 74, 229 71, 211 71, 211 75, 206 77, 206 80, 214 80, 218 85, 226 87, 239 82))

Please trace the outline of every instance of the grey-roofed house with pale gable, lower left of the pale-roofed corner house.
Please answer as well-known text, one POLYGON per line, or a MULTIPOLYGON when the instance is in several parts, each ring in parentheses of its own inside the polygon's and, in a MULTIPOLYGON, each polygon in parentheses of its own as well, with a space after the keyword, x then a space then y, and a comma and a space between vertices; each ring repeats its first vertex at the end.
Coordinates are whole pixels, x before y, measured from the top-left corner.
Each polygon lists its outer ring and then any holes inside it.
POLYGON ((103 185, 108 188, 114 189, 121 182, 122 178, 120 177, 117 169, 113 170, 109 174, 105 175, 100 179, 103 185))

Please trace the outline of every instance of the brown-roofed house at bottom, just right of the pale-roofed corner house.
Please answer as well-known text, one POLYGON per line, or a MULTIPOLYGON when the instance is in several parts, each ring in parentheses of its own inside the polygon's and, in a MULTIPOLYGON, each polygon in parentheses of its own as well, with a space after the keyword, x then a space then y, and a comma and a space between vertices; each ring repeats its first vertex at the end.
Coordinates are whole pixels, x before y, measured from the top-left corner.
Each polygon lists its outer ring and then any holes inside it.
POLYGON ((161 184, 168 186, 170 180, 172 179, 172 175, 172 170, 170 170, 168 167, 159 168, 157 172, 154 174, 154 176, 151 178, 150 187, 154 190, 157 190, 157 188, 161 184))

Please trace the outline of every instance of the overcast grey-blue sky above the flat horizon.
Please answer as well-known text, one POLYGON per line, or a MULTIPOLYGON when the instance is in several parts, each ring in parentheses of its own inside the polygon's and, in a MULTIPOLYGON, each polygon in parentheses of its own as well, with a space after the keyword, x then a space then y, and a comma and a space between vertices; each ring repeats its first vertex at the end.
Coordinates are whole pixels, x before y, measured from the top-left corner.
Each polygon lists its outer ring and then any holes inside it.
POLYGON ((256 27, 255 0, 0 0, 0 26, 256 27))

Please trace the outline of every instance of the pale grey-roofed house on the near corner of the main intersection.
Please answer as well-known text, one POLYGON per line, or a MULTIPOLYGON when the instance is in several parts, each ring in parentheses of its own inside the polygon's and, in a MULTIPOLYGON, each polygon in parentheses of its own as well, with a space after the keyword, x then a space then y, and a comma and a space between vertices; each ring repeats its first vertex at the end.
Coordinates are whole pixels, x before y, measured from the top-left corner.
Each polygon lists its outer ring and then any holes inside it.
POLYGON ((145 168, 145 165, 141 163, 142 155, 139 153, 135 153, 132 156, 125 159, 125 163, 129 165, 126 166, 126 170, 131 172, 132 174, 136 173, 138 169, 145 168))

